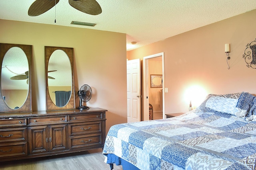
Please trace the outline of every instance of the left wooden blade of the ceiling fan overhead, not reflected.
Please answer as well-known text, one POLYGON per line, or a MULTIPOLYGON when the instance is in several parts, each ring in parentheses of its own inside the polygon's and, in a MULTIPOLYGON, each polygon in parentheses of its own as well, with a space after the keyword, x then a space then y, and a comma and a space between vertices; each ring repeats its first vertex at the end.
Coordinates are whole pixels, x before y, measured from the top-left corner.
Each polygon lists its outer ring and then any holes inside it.
MULTIPOLYGON (((60 0, 56 0, 58 4, 60 0)), ((55 6, 55 0, 36 0, 28 9, 29 16, 39 16, 55 6)))

